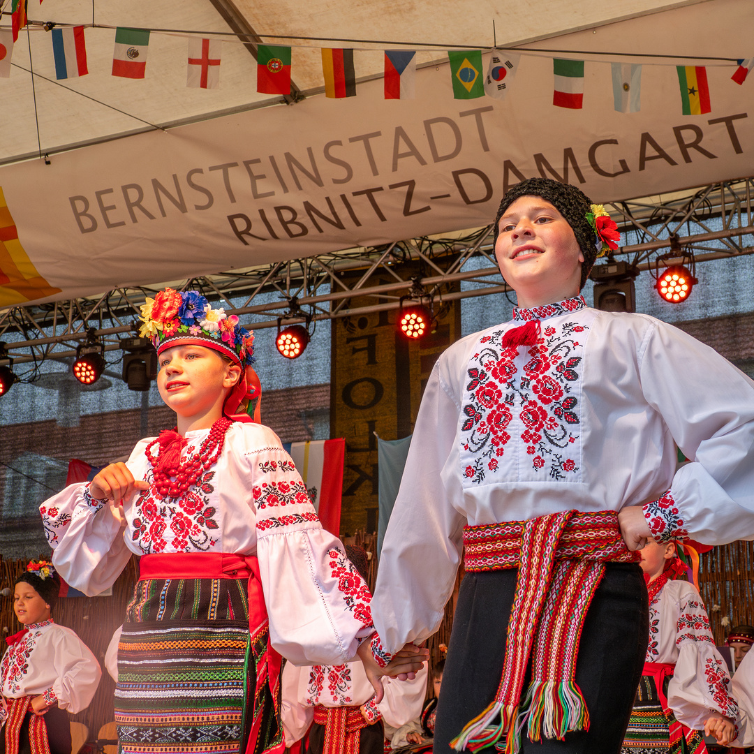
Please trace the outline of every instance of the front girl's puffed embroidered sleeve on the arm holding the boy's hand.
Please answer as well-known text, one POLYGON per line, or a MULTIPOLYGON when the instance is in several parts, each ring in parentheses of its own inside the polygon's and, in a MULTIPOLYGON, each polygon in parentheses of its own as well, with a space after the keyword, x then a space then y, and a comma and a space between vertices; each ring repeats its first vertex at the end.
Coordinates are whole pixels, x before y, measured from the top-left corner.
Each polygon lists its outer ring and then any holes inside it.
POLYGON ((247 453, 256 554, 272 645, 296 665, 339 665, 374 633, 369 587, 322 528, 290 455, 268 428, 247 453))

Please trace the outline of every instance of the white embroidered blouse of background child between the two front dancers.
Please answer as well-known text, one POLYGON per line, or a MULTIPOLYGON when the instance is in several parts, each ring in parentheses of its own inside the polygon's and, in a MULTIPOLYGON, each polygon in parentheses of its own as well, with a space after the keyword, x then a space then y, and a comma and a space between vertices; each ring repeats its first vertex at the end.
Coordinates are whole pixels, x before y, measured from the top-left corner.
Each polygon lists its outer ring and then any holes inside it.
POLYGON ((360 662, 345 665, 314 665, 283 669, 283 730, 287 746, 304 737, 314 720, 314 706, 361 706, 372 722, 383 719, 387 725, 400 728, 421 715, 427 691, 427 666, 422 665, 411 681, 382 680, 385 696, 379 704, 364 667, 360 662))

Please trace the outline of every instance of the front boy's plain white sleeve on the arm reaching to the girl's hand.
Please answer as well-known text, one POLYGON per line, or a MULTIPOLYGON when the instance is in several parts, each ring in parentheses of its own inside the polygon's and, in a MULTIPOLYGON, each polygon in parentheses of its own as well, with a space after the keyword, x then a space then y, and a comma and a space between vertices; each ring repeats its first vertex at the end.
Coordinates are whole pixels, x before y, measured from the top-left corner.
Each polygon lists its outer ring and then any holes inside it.
POLYGON ((387 654, 440 626, 461 561, 464 516, 452 506, 459 478, 443 479, 461 406, 434 365, 421 399, 403 479, 382 543, 372 616, 387 654))

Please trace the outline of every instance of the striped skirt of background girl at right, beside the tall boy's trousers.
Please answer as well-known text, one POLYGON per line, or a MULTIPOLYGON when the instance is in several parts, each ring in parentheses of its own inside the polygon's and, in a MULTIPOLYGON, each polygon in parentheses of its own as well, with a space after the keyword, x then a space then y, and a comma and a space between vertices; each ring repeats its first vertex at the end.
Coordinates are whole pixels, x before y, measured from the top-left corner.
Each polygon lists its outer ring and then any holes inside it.
MULTIPOLYGON (((667 682, 665 679, 665 693, 667 682)), ((699 731, 684 726, 684 734, 670 744, 670 724, 673 713, 665 713, 652 676, 642 676, 636 690, 636 701, 626 730, 621 754, 706 754, 706 745, 699 731), (670 717, 670 719, 669 719, 670 717)))

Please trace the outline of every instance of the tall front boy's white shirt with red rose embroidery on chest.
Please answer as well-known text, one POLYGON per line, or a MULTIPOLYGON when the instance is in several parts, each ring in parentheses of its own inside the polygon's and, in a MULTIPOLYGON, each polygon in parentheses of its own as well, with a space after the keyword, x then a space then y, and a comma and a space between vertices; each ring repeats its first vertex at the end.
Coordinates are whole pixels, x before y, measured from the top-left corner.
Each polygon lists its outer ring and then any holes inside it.
POLYGON ((428 380, 372 599, 388 653, 437 630, 467 524, 655 501, 655 535, 754 538, 743 372, 676 327, 581 297, 513 314, 450 346, 428 380), (529 320, 541 345, 504 348, 529 320), (677 471, 676 444, 691 459, 677 471))

